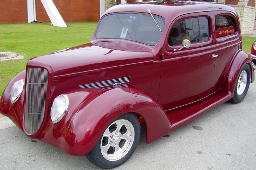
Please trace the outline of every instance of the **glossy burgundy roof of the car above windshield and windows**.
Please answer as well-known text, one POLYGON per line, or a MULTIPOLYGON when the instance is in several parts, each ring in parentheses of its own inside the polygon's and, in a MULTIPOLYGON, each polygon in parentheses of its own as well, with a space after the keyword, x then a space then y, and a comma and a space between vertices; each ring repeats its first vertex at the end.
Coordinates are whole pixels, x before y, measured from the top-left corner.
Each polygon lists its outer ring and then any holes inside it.
POLYGON ((147 9, 150 9, 152 14, 162 16, 163 18, 169 18, 170 14, 176 18, 183 14, 207 11, 229 11, 236 15, 236 11, 231 6, 199 1, 149 1, 136 4, 120 4, 111 7, 105 14, 116 12, 148 13, 147 9))

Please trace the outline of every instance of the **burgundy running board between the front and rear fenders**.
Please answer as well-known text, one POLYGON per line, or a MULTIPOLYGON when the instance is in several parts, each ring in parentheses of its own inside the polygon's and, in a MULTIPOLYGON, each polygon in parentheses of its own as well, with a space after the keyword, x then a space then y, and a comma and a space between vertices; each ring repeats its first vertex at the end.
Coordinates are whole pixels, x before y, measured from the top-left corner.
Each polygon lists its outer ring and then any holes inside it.
POLYGON ((201 115, 227 102, 230 98, 230 93, 218 92, 197 104, 168 112, 167 117, 171 122, 170 132, 192 122, 201 115))

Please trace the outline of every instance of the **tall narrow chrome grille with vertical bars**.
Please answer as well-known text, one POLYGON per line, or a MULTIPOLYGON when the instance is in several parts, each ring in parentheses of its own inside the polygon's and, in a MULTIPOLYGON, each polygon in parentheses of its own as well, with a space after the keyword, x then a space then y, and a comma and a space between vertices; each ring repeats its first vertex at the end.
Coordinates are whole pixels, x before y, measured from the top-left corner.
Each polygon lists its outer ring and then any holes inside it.
POLYGON ((33 134, 40 128, 45 113, 48 73, 44 68, 28 68, 25 129, 33 134))

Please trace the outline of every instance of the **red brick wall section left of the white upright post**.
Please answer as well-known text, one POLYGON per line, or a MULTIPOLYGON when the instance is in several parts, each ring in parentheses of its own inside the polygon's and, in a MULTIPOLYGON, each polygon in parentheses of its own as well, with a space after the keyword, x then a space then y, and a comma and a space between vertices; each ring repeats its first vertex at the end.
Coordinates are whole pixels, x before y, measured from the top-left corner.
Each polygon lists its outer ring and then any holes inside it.
POLYGON ((0 0, 0 23, 27 22, 26 0, 0 0))

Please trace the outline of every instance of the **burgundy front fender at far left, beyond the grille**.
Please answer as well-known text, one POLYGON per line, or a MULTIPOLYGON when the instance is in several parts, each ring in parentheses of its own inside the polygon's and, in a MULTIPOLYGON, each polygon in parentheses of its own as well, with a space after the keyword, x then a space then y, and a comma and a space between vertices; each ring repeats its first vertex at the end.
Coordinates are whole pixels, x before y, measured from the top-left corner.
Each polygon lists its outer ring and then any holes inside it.
MULTIPOLYGON (((23 120, 23 106, 24 106, 24 93, 25 90, 23 89, 23 92, 17 102, 14 104, 11 104, 10 97, 11 97, 11 91, 13 84, 18 80, 23 80, 25 83, 25 77, 26 77, 26 70, 20 72, 17 74, 6 86, 3 95, 0 100, 0 113, 3 115, 9 117, 13 123, 16 124, 17 127, 22 129, 22 120, 23 120)), ((24 87, 25 88, 25 87, 24 87)))

